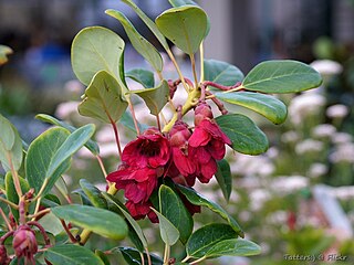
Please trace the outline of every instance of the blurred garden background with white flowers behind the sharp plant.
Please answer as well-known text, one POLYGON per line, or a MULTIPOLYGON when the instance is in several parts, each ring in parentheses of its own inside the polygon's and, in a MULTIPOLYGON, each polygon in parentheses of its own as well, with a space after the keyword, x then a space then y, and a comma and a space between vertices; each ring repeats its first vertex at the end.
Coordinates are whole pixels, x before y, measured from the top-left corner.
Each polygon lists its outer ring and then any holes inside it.
MULTIPOLYGON (((150 18, 169 8, 167 0, 135 2, 150 18)), ((281 97, 289 106, 285 124, 274 126, 253 117, 271 147, 258 157, 230 151, 233 190, 228 203, 216 184, 200 188, 227 208, 263 250, 258 257, 222 257, 218 263, 291 264, 284 255, 324 254, 330 258, 333 254, 346 256, 337 264, 354 264, 354 1, 198 3, 211 21, 206 57, 235 64, 243 73, 264 60, 293 59, 312 64, 324 78, 317 89, 281 97)), ((119 23, 104 14, 108 8, 123 11, 158 46, 142 21, 118 0, 0 0, 0 44, 13 50, 9 63, 0 67, 0 113, 15 124, 25 141, 46 128, 34 119, 38 113, 73 125, 87 121, 76 110, 85 87, 72 72, 70 49, 75 34, 87 25, 107 26, 128 42, 119 23)), ((188 75, 185 56, 174 52, 186 63, 183 70, 188 75)), ((147 67, 128 44, 126 59, 126 70, 147 67)), ((165 72, 174 77, 168 62, 165 72)), ((148 123, 148 110, 142 106, 137 112, 142 121, 148 123)), ((112 171, 117 166, 113 132, 98 127, 96 140, 112 171)), ((128 135, 126 131, 125 142, 132 139, 128 135)), ((64 176, 70 192, 80 178, 104 189, 98 166, 84 150, 64 176)), ((198 220, 217 221, 207 211, 198 220)), ((149 242, 158 244, 156 231, 144 225, 149 242)), ((105 248, 114 243, 96 244, 105 248)), ((175 255, 181 254, 177 250, 175 255)))

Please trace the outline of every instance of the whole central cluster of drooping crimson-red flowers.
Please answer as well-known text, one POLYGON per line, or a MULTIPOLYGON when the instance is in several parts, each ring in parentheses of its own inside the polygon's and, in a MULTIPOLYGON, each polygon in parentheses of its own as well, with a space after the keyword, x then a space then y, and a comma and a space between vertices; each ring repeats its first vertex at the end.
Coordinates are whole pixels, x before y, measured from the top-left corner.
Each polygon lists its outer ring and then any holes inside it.
MULTIPOLYGON (((157 222, 149 198, 158 186, 158 178, 167 176, 176 183, 191 187, 196 178, 208 183, 216 173, 216 160, 223 158, 225 145, 231 141, 212 119, 206 103, 200 103, 195 114, 194 131, 181 120, 176 121, 167 136, 154 128, 146 130, 124 148, 123 163, 107 176, 118 190, 125 191, 126 206, 133 218, 148 215, 157 222)), ((191 213, 200 211, 199 206, 184 202, 191 213)))

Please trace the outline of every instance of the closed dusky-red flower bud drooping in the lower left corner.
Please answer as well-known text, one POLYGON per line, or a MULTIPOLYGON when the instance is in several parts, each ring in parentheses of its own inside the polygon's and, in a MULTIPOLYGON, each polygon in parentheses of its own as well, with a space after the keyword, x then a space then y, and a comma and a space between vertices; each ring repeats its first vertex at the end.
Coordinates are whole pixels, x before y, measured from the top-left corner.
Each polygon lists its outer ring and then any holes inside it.
POLYGON ((17 257, 32 261, 38 252, 34 232, 28 225, 21 225, 13 234, 12 247, 17 257))

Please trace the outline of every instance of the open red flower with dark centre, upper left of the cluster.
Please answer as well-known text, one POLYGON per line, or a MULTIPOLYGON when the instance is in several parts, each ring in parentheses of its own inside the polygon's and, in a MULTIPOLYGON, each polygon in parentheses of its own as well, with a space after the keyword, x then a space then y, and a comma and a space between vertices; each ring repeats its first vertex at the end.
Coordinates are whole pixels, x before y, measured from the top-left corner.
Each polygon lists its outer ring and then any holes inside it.
POLYGON ((139 168, 165 166, 170 157, 169 142, 157 129, 150 128, 123 150, 122 161, 139 168))

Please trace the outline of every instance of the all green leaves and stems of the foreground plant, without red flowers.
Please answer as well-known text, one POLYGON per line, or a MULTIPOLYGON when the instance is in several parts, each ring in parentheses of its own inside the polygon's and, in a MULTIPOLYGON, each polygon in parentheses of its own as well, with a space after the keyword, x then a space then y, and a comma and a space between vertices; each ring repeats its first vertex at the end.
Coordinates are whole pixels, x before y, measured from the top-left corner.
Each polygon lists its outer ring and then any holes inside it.
MULTIPOLYGON (((214 100, 220 110, 223 110, 223 106, 219 100, 223 100, 254 110, 274 124, 281 124, 287 118, 287 106, 267 94, 301 92, 321 84, 321 77, 314 70, 295 61, 263 62, 244 77, 236 66, 216 60, 205 60, 202 55, 201 76, 198 80, 195 54, 199 50, 202 51, 202 41, 210 28, 205 11, 189 0, 169 0, 173 8, 163 12, 154 22, 132 0, 122 1, 138 14, 170 56, 179 81, 188 92, 188 98, 180 113, 173 109, 174 117, 162 128, 160 112, 173 98, 170 84, 163 75, 164 62, 157 49, 138 33, 122 12, 106 11, 122 23, 132 45, 152 65, 159 77, 159 84, 155 85, 154 73, 148 70, 135 68, 125 72, 125 43, 121 36, 102 26, 83 29, 72 44, 73 71, 87 86, 79 112, 83 116, 111 124, 119 152, 116 124, 122 123, 137 134, 144 128, 134 116, 131 100, 134 95, 145 102, 150 114, 156 116, 159 129, 166 132, 175 124, 178 115, 185 115, 194 108, 204 87, 206 88, 204 92, 208 93, 207 99, 214 100), (195 84, 188 83, 183 76, 166 39, 190 56, 195 84), (126 78, 140 83, 144 88, 131 91, 126 78)), ((10 225, 11 220, 7 222, 6 218, 9 212, 7 205, 10 205, 15 224, 27 223, 29 220, 39 221, 46 233, 52 235, 52 246, 42 245, 44 254, 35 256, 39 263, 45 261, 53 265, 110 264, 107 254, 114 251, 119 251, 128 264, 187 264, 187 262, 196 264, 206 258, 223 255, 247 256, 260 253, 260 247, 256 243, 240 239, 243 237, 243 232, 236 220, 220 205, 207 200, 191 188, 169 181, 160 186, 153 209, 158 216, 160 236, 166 245, 164 259, 148 253, 148 242, 143 230, 129 215, 125 205, 114 197, 116 193, 114 184, 110 186, 107 192, 101 192, 88 181, 81 180, 77 193, 83 204, 72 204, 67 200, 69 204, 62 205, 58 197, 52 193, 52 188, 56 187, 64 198, 69 199, 61 176, 71 167, 73 155, 85 146, 102 165, 100 148, 91 139, 95 127, 86 125, 74 128, 48 115, 37 117, 55 127, 40 135, 27 147, 17 129, 0 116, 0 161, 7 171, 0 189, 1 201, 4 202, 1 205, 4 219, 3 232, 13 229, 10 225), (33 192, 34 198, 29 199, 25 195, 29 192, 33 192), (226 222, 207 224, 194 231, 194 221, 184 206, 180 193, 190 203, 208 208, 226 222), (21 219, 23 213, 19 213, 21 203, 28 209, 23 219, 21 219), (58 222, 62 226, 53 229, 53 224, 58 222), (83 230, 80 231, 76 226, 83 230), (105 253, 100 250, 93 253, 82 246, 88 240, 91 232, 117 241, 128 236, 135 247, 117 246, 105 253), (169 259, 169 247, 178 240, 185 246, 187 256, 177 263, 169 259)), ((231 147, 236 151, 259 155, 268 149, 264 132, 249 117, 227 114, 217 117, 216 121, 230 138, 231 147)), ((216 177, 228 199, 231 192, 230 167, 227 160, 218 161, 218 167, 216 177)), ((104 167, 103 173, 106 174, 104 167)))

